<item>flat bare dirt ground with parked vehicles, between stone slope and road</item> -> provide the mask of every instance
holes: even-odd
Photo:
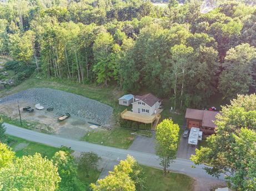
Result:
[[[93,131],[92,128],[89,128],[89,125],[91,124],[89,124],[85,118],[71,116],[64,121],[58,121],[57,118],[64,113],[54,110],[47,111],[46,109],[36,110],[34,107],[36,104],[37,103],[28,101],[19,101],[21,118],[27,122],[23,123],[23,127],[28,127],[37,131],[53,133],[54,135],[60,137],[66,137],[75,140],[79,140],[87,132]],[[23,111],[22,107],[25,106],[31,106],[34,111]],[[0,104],[0,111],[12,119],[19,120],[18,104],[16,101],[9,101]]]

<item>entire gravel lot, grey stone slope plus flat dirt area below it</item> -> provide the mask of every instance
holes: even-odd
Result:
[[[49,88],[33,88],[20,91],[0,99],[0,113],[19,119],[18,104],[23,123],[22,126],[41,132],[79,140],[87,132],[94,131],[89,126],[93,124],[108,126],[113,108],[87,97],[71,94],[65,91]],[[41,104],[43,110],[36,110],[35,105]],[[23,111],[22,107],[31,106],[34,111]],[[53,107],[53,111],[47,111]],[[57,118],[66,112],[71,117],[63,121]]]

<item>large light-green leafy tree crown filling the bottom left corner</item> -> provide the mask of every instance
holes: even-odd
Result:
[[[38,153],[16,158],[0,169],[2,190],[54,191],[60,180],[57,167]]]

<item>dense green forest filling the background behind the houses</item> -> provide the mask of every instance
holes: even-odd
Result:
[[[152,1],[159,2],[159,1]],[[256,6],[170,0],[0,1],[0,55],[16,72],[79,84],[116,85],[201,108],[255,92]]]

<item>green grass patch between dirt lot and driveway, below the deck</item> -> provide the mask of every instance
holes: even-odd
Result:
[[[150,131],[129,130],[127,128],[113,128],[112,130],[96,129],[87,133],[82,138],[82,141],[127,149],[135,138],[135,135],[131,135],[130,133],[152,136]]]

